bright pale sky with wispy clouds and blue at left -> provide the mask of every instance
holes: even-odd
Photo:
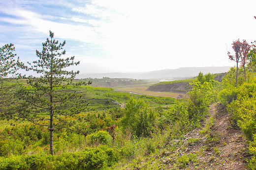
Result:
[[[234,66],[232,42],[256,40],[256,0],[0,0],[0,47],[23,62],[54,32],[80,73]]]

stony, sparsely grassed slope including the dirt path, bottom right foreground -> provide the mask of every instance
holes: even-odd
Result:
[[[156,165],[160,170],[246,170],[246,144],[243,132],[230,124],[224,107],[215,103],[200,127],[181,140],[169,141],[168,137],[165,146],[171,147],[162,153],[119,166],[120,170],[150,170]]]

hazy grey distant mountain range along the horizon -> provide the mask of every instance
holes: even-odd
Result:
[[[224,67],[182,67],[179,69],[165,69],[152,72],[138,72],[138,73],[81,73],[76,78],[134,78],[134,79],[175,79],[194,77],[199,72],[202,73],[224,73],[228,72],[229,66]]]

